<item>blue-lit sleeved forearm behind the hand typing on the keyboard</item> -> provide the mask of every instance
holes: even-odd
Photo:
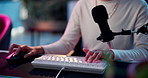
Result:
[[[143,48],[135,48],[131,50],[116,50],[112,49],[114,52],[114,60],[145,60],[148,59],[148,51]]]

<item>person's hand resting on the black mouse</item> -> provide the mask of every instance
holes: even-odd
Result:
[[[9,47],[9,53],[14,52],[14,50],[16,51],[14,56],[17,55],[20,51],[28,52],[26,55],[24,55],[24,58],[34,56],[37,54],[44,54],[44,50],[42,49],[42,47],[30,47],[27,45],[12,44]]]

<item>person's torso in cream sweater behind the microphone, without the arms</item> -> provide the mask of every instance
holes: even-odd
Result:
[[[104,5],[108,13],[111,13],[118,0],[110,2],[100,2],[97,5]],[[99,26],[94,22],[91,14],[92,8],[96,6],[95,0],[81,0],[80,7],[80,29],[83,38],[83,47],[88,49],[108,49],[108,45],[96,38],[101,34]],[[124,30],[134,30],[136,13],[133,0],[120,0],[116,11],[111,18],[108,19],[108,24],[112,32],[121,32]],[[133,35],[116,36],[112,40],[114,49],[131,49],[133,48]]]

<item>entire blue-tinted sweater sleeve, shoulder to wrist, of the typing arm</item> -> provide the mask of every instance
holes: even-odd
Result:
[[[148,7],[145,2],[141,3],[140,10],[137,15],[135,30],[148,23]],[[114,60],[146,60],[148,59],[148,35],[134,34],[134,48],[130,50],[113,49]]]

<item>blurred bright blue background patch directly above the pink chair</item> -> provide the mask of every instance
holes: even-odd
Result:
[[[0,0],[0,13],[11,18],[14,28],[22,25],[20,19],[21,4],[21,1],[16,0]]]

